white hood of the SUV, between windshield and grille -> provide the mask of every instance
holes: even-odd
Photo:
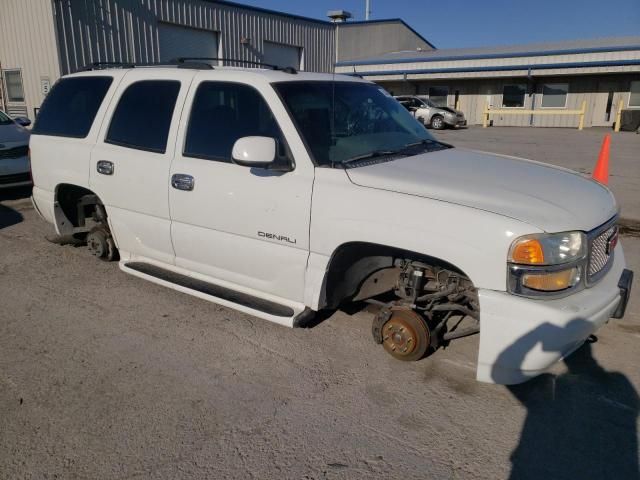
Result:
[[[450,148],[346,170],[353,183],[514,218],[547,232],[591,230],[617,206],[606,187],[563,168]]]

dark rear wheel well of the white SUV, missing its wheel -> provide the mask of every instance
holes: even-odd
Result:
[[[93,217],[96,205],[101,204],[98,196],[91,190],[67,183],[60,184],[56,188],[56,221],[66,229],[83,229],[87,225],[87,219]]]

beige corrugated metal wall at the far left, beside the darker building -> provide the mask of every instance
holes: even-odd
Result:
[[[0,0],[0,32],[0,65],[21,70],[25,95],[8,110],[33,119],[44,98],[42,83],[60,76],[51,0]]]

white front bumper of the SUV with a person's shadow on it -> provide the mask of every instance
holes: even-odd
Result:
[[[630,271],[618,245],[611,270],[596,285],[568,297],[534,300],[480,290],[477,379],[522,383],[570,355],[609,318],[624,314],[633,278],[625,272]]]

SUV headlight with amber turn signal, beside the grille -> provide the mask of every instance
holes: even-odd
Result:
[[[583,285],[586,253],[583,232],[519,237],[509,249],[508,289],[530,297],[573,292]]]

